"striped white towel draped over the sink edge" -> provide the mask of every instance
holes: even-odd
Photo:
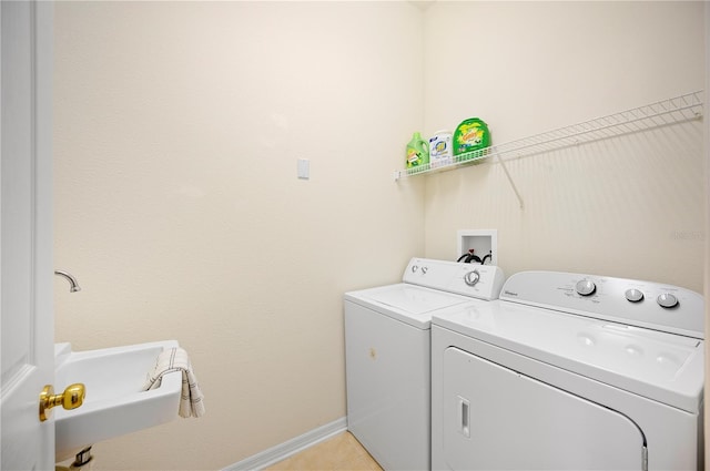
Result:
[[[173,371],[182,371],[182,396],[180,398],[180,417],[202,417],[204,414],[204,396],[200,390],[197,378],[192,371],[192,365],[187,352],[180,348],[168,348],[163,350],[155,361],[152,371],[148,372],[144,391],[156,389],[164,375]]]

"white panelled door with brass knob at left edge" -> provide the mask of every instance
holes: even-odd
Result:
[[[53,470],[52,3],[2,1],[0,24],[1,469]]]

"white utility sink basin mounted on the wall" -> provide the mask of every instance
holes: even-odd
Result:
[[[57,461],[99,441],[175,419],[182,390],[181,371],[163,376],[158,389],[141,389],[160,352],[178,346],[176,340],[165,340],[72,351],[70,344],[55,344],[54,390],[60,393],[74,382],[87,387],[80,408],[52,409]]]

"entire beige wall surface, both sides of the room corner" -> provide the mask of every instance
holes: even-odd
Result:
[[[57,4],[57,340],[176,338],[207,416],[98,469],[219,469],[345,414],[341,298],[497,228],[507,274],[702,289],[702,124],[394,184],[412,131],[494,141],[703,86],[702,3]],[[423,69],[424,68],[424,69]],[[310,158],[312,178],[296,178]]]

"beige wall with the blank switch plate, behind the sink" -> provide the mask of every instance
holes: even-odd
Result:
[[[220,469],[345,416],[342,295],[424,252],[423,182],[392,177],[423,124],[422,21],[57,3],[54,259],[83,288],[57,279],[57,341],[178,339],[207,410],[99,443],[94,469]]]

